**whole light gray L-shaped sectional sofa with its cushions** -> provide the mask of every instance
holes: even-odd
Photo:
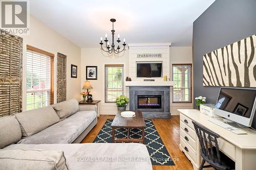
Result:
[[[0,118],[0,170],[152,169],[143,144],[80,143],[96,124],[75,99]]]

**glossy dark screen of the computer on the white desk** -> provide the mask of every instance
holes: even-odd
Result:
[[[221,88],[216,108],[250,118],[255,96],[255,89]]]

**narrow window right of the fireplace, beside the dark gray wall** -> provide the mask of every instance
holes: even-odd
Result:
[[[173,64],[173,103],[191,103],[192,64]]]

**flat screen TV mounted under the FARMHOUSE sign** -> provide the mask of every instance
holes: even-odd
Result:
[[[137,63],[137,77],[162,77],[162,63]]]

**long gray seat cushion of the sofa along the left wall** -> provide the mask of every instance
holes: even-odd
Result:
[[[78,111],[45,130],[24,138],[18,143],[72,143],[96,118],[95,111]]]

